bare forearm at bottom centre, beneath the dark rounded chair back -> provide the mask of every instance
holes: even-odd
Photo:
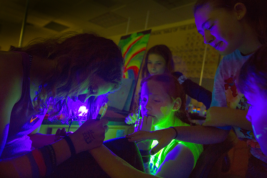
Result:
[[[104,145],[89,150],[101,168],[112,178],[155,178],[151,174],[139,171],[115,155]]]

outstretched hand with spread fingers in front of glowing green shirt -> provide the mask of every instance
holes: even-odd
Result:
[[[150,150],[150,155],[154,155],[162,148],[166,147],[176,136],[173,128],[165,128],[157,131],[137,131],[130,135],[125,135],[129,142],[142,142],[147,140],[157,140],[158,144]]]

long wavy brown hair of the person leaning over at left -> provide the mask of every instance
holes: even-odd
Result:
[[[34,98],[36,111],[53,105],[50,117],[62,113],[67,118],[68,97],[76,96],[92,85],[94,75],[112,84],[113,90],[121,84],[124,59],[120,48],[111,39],[94,33],[68,32],[54,38],[38,38],[25,47],[11,50],[54,61],[53,72],[42,81]],[[96,98],[91,98],[91,101],[96,101]],[[92,112],[96,107],[91,103]]]

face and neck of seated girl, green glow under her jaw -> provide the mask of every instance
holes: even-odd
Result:
[[[173,101],[165,88],[162,82],[149,80],[144,82],[140,98],[142,116],[152,116],[153,126],[164,128],[174,125],[174,111],[179,109],[176,107],[176,101],[181,101],[180,98]]]

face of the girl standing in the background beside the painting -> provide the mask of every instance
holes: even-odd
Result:
[[[147,70],[150,75],[163,74],[166,70],[165,59],[158,54],[148,55]]]

